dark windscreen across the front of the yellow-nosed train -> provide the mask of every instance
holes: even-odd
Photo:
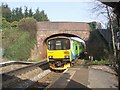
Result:
[[[48,41],[49,50],[67,50],[70,49],[70,40],[66,38],[57,38]]]

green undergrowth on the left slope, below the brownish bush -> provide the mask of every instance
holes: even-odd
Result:
[[[16,28],[3,31],[4,58],[27,61],[34,44],[35,37],[28,31],[20,31]]]

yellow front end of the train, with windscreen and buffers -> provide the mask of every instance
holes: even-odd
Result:
[[[64,70],[70,67],[70,40],[68,38],[52,38],[47,40],[47,61],[50,68]]]

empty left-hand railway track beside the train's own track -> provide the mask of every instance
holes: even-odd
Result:
[[[28,80],[32,80],[30,78],[35,79],[35,76],[40,76],[40,73],[45,72],[49,68],[48,66],[49,65],[46,61],[42,61],[9,72],[4,72],[0,74],[0,76],[2,76],[2,88],[17,87],[19,83],[24,83]]]

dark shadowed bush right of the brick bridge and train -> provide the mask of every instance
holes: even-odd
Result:
[[[86,45],[88,55],[93,56],[94,59],[100,60],[109,58],[109,46],[98,30],[90,32],[90,37]]]

